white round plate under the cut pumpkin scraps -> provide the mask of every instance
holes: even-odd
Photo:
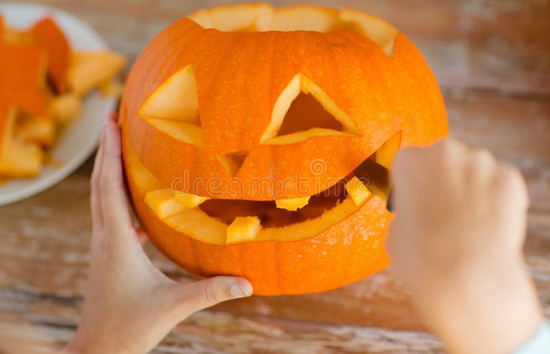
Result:
[[[0,3],[0,14],[12,27],[28,28],[45,15],[63,29],[76,50],[107,49],[107,43],[83,21],[67,12],[43,5]],[[90,156],[98,145],[102,126],[115,108],[115,97],[102,97],[98,92],[87,95],[78,118],[69,123],[58,137],[51,155],[56,166],[43,167],[36,178],[10,180],[0,185],[0,205],[17,202],[52,187],[69,176]],[[61,165],[58,165],[60,162]]]

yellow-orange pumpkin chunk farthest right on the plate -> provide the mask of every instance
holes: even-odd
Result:
[[[118,75],[126,59],[113,51],[73,52],[67,71],[67,86],[79,95]]]

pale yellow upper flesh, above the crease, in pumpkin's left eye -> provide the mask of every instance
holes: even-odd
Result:
[[[177,119],[200,124],[195,69],[177,71],[159,86],[137,110],[142,117]]]

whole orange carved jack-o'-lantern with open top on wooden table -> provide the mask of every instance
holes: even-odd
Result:
[[[448,134],[414,45],[354,10],[234,5],[170,25],[120,108],[126,175],[153,243],[256,294],[345,285],[386,266],[391,214],[353,169]]]

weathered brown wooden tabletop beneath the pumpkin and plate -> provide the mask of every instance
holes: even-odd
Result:
[[[40,1],[93,25],[134,60],[163,27],[231,1]],[[298,1],[272,1],[288,5]],[[550,317],[550,1],[311,1],[360,8],[408,34],[437,75],[451,134],[516,165],[531,196],[525,245]],[[0,207],[0,309],[32,327],[37,345],[71,338],[86,287],[90,159],[52,189]],[[164,272],[186,276],[147,246]],[[252,297],[201,311],[157,353],[438,352],[399,281],[384,271],[339,290]]]

